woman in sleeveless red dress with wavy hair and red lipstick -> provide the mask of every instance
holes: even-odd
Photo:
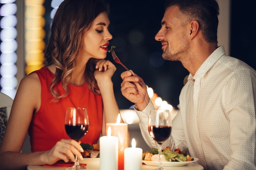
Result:
[[[53,164],[83,149],[64,128],[67,107],[88,110],[83,143],[97,143],[119,108],[111,81],[116,67],[106,58],[109,8],[100,0],[65,0],[56,11],[45,51],[45,67],[22,79],[0,148],[2,169]],[[31,153],[20,153],[29,131]]]

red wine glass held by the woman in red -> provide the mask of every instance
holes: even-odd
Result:
[[[88,132],[88,127],[89,121],[86,108],[67,108],[65,130],[71,139],[79,142]],[[79,170],[84,168],[80,166],[76,155],[75,158],[74,166],[67,168],[67,170]]]

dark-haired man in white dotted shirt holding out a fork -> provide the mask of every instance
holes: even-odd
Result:
[[[162,28],[165,60],[180,61],[189,71],[180,93],[179,113],[171,137],[163,144],[189,151],[204,170],[255,170],[256,71],[225,55],[217,44],[219,7],[215,0],[169,0]],[[121,92],[135,103],[141,133],[150,147],[148,114],[154,109],[143,80],[121,74]]]

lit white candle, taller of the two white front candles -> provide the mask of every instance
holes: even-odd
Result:
[[[111,128],[108,128],[108,136],[99,139],[100,170],[118,169],[118,138],[111,136]]]

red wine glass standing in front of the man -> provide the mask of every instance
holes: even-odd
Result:
[[[164,109],[151,110],[148,118],[149,134],[158,144],[159,163],[155,170],[164,170],[161,162],[162,144],[171,135],[171,113]]]

